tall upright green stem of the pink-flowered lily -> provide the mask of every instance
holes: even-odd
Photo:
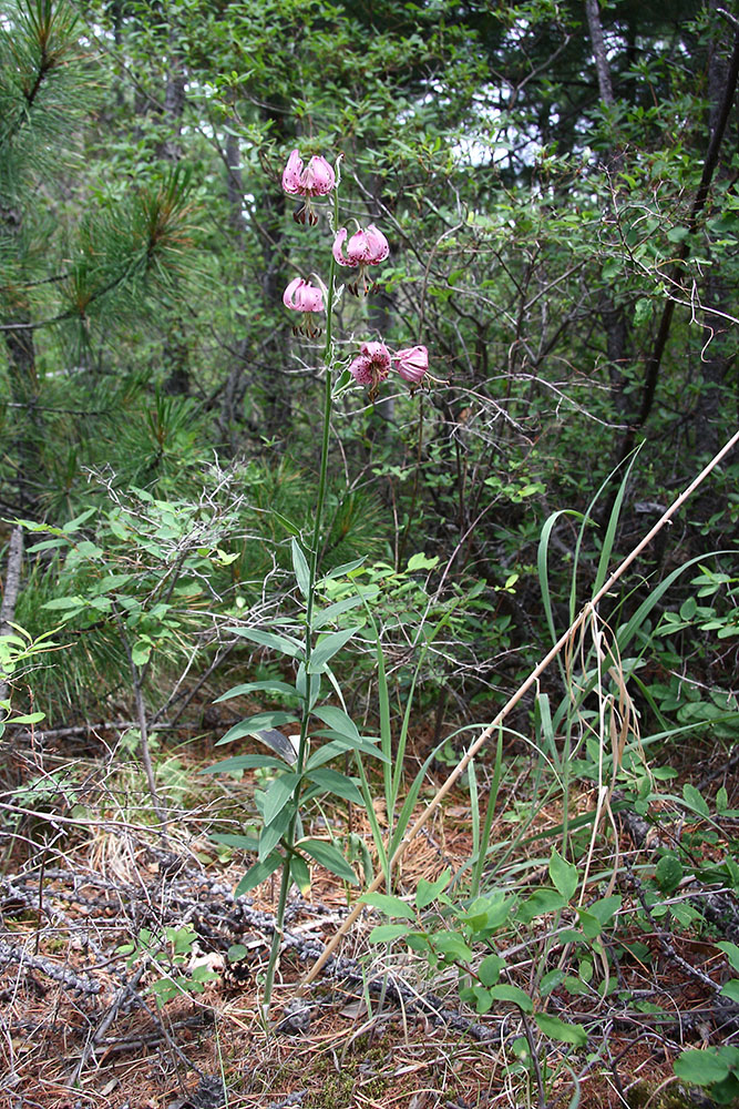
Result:
[[[338,190],[333,193],[333,231],[336,232],[339,226],[339,195]],[[326,478],[328,474],[328,444],[331,429],[331,395],[333,388],[333,345],[332,345],[332,322],[333,322],[333,282],[336,277],[336,261],[333,255],[331,255],[331,266],[329,269],[328,278],[328,293],[327,293],[327,304],[326,304],[326,345],[324,347],[324,369],[325,369],[325,386],[324,386],[324,424],[321,434],[321,456],[320,456],[320,468],[318,471],[318,495],[316,499],[316,519],[314,523],[314,536],[312,543],[310,548],[310,560],[308,563],[310,570],[310,577],[308,580],[308,596],[306,598],[306,689],[305,696],[302,700],[302,713],[300,718],[300,741],[298,744],[298,757],[296,760],[295,771],[298,775],[298,782],[295,787],[294,803],[295,812],[292,818],[288,825],[287,832],[285,833],[285,838],[283,841],[284,846],[287,848],[285,855],[285,862],[283,863],[283,875],[279,885],[279,895],[277,898],[277,909],[275,912],[275,932],[273,934],[271,947],[269,950],[269,964],[267,966],[267,975],[265,978],[265,993],[261,1003],[261,1009],[267,1019],[269,1015],[269,1006],[271,1003],[271,994],[275,985],[275,971],[277,968],[277,959],[279,956],[279,949],[283,944],[283,935],[285,930],[285,909],[287,908],[287,895],[290,888],[290,858],[292,854],[292,847],[295,845],[295,831],[298,824],[298,811],[300,802],[300,791],[302,788],[302,773],[306,764],[306,753],[308,749],[308,723],[310,720],[310,710],[312,709],[312,698],[311,698],[311,681],[310,681],[310,652],[312,650],[312,618],[314,618],[314,599],[316,596],[316,581],[318,579],[318,557],[321,543],[321,521],[324,516],[324,502],[326,500]]]

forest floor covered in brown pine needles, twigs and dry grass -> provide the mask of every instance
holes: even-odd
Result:
[[[635,875],[654,865],[658,844],[651,832],[637,842],[638,821],[616,824],[615,888],[624,913],[610,954],[618,990],[601,996],[587,988],[583,960],[547,940],[546,918],[530,926],[533,956],[524,943],[510,959],[512,980],[530,991],[545,947],[547,966],[571,976],[579,967],[585,983],[582,990],[553,990],[546,1005],[585,1027],[587,1045],[542,1040],[532,1068],[516,1058],[515,1045],[528,1031],[515,1006],[501,1001],[483,1015],[462,1006],[456,968],[432,974],[408,948],[370,945],[381,918],[369,909],[339,957],[300,993],[348,913],[347,888],[318,866],[307,897],[292,889],[265,1028],[259,990],[277,882],[234,901],[244,861],[208,840],[214,821],[248,807],[248,775],[223,788],[211,780],[199,786],[196,770],[209,761],[207,752],[196,759],[192,749],[181,751],[167,764],[173,821],[163,837],[148,826],[135,764],[103,770],[90,746],[90,740],[80,742],[73,757],[69,744],[7,749],[6,773],[14,763],[24,784],[0,798],[3,1109],[574,1109],[576,1091],[586,1109],[714,1103],[696,1100],[675,1078],[673,1062],[681,1049],[720,1045],[739,1028],[739,1006],[719,991],[727,970],[716,946],[739,942],[739,910],[733,895],[723,894],[718,927],[681,927],[665,916],[645,924]],[[510,757],[512,765],[521,762],[515,753]],[[439,767],[437,783],[443,776]],[[512,784],[507,794],[505,784],[501,791],[493,840],[509,835],[525,776],[506,779]],[[729,784],[736,798],[736,767]],[[592,808],[594,798],[595,791],[584,787],[573,811]],[[351,831],[371,844],[362,816],[350,814]],[[398,892],[410,893],[419,879],[432,881],[470,858],[469,816],[470,794],[460,786],[411,845]],[[347,818],[346,808],[330,814],[335,834],[347,831]],[[545,833],[560,820],[556,806],[545,806],[536,828]],[[676,821],[666,812],[659,835],[685,835],[685,823],[678,828]],[[610,857],[614,837],[613,828],[604,836]],[[706,851],[718,857],[726,845],[709,841]],[[525,888],[537,872],[521,873]],[[701,891],[686,881],[680,893],[687,904]],[[151,957],[157,937],[158,970]],[[603,971],[595,963],[597,976]],[[207,980],[193,985],[198,975]]]

